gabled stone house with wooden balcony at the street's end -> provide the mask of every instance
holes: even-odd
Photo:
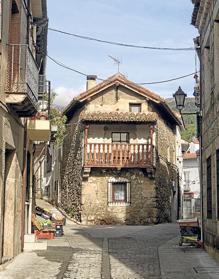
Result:
[[[164,99],[116,74],[64,110],[61,206],[82,223],[147,224],[178,217],[176,129]]]

